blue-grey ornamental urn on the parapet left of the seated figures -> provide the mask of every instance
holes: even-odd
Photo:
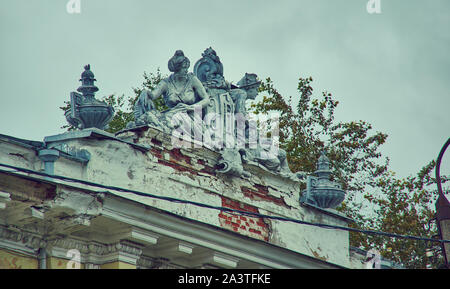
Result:
[[[98,128],[104,130],[114,116],[112,106],[95,99],[98,87],[94,85],[94,73],[90,65],[84,67],[81,74],[81,86],[77,92],[70,93],[71,109],[65,113],[67,121],[79,129]]]

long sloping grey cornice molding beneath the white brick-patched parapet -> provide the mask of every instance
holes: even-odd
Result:
[[[107,195],[103,216],[275,269],[342,268],[267,242]]]

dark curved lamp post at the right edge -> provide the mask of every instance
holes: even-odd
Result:
[[[450,138],[444,144],[439,153],[436,161],[436,184],[438,187],[439,197],[436,201],[436,220],[439,230],[440,239],[449,240],[450,239],[450,202],[445,197],[442,192],[440,167],[442,157],[444,156],[445,150],[450,145]],[[450,269],[450,243],[442,243],[442,252],[444,254],[445,266]]]

